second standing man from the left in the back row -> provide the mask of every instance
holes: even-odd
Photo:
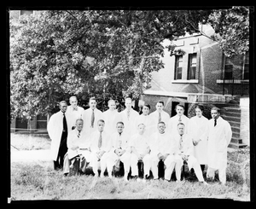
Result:
[[[76,120],[82,119],[82,115],[84,113],[84,108],[78,106],[78,99],[77,96],[71,96],[69,98],[70,106],[67,107],[66,114],[68,115],[68,124],[67,129],[68,131],[72,131],[76,128]]]

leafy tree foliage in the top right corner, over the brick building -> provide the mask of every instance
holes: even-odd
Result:
[[[249,8],[213,10],[208,22],[216,34],[212,39],[218,41],[224,55],[245,55],[249,50]]]

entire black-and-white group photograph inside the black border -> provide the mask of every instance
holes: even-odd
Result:
[[[8,203],[255,200],[253,6],[6,13]]]

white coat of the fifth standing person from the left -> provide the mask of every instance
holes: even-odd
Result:
[[[137,127],[134,122],[138,115],[139,113],[137,113],[137,111],[135,111],[132,108],[130,110],[129,119],[127,118],[127,108],[125,108],[125,110],[119,113],[120,120],[125,125],[124,133],[127,134],[128,136],[132,136],[133,134],[137,133]]]

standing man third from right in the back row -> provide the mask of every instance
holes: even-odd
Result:
[[[175,107],[176,115],[174,115],[168,121],[168,130],[171,134],[177,134],[177,125],[183,123],[185,125],[185,133],[188,133],[189,118],[184,115],[185,107],[183,105],[177,104]]]

